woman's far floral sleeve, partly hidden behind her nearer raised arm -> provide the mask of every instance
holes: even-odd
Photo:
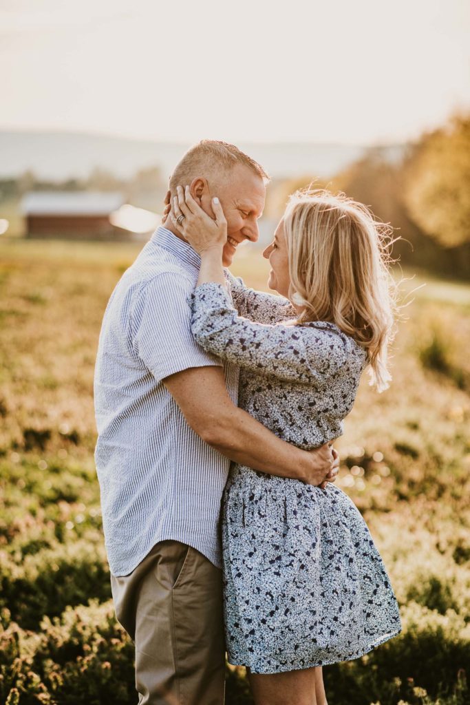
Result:
[[[233,276],[228,269],[225,270],[225,278],[240,316],[268,324],[295,317],[295,308],[283,296],[250,289],[240,276]]]

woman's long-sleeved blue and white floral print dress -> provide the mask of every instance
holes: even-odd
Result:
[[[239,406],[305,450],[338,438],[367,364],[364,348],[330,322],[276,325],[295,313],[287,300],[228,283],[233,298],[216,283],[194,290],[192,333],[240,367]],[[252,673],[322,666],[366,654],[401,630],[369,529],[334,484],[321,489],[233,464],[222,545],[234,665]]]

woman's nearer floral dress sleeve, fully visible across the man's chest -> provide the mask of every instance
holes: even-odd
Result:
[[[190,300],[197,343],[237,367],[287,381],[323,384],[350,355],[351,340],[336,327],[271,326],[238,316],[221,284],[200,284]]]

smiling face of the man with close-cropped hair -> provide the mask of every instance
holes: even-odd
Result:
[[[211,212],[211,199],[217,196],[227,220],[227,243],[223,247],[223,266],[232,264],[237,246],[244,240],[256,243],[259,238],[257,220],[263,213],[266,187],[261,176],[237,164],[221,183],[207,181],[209,194],[202,195],[202,207]],[[206,198],[206,203],[204,199]]]

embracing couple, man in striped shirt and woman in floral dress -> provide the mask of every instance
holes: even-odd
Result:
[[[326,705],[322,666],[400,632],[359,510],[335,486],[361,373],[388,386],[381,226],[326,191],[290,197],[264,250],[278,295],[227,269],[268,177],[192,147],[167,217],[109,300],[95,373],[106,551],[140,704],[222,705],[225,650],[256,705]]]

